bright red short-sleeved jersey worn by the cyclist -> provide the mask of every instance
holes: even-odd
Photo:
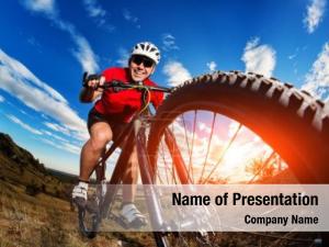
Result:
[[[129,83],[128,68],[109,68],[102,75],[105,81],[122,81]],[[143,81],[146,86],[157,86],[150,79]],[[162,92],[150,91],[150,102],[158,108],[163,101]],[[113,116],[120,122],[128,123],[133,115],[141,110],[141,91],[136,89],[126,89],[115,92],[113,89],[106,89],[100,100],[95,102],[95,109],[101,114]]]

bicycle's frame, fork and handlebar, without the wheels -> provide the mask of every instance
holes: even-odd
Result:
[[[111,85],[103,86],[104,89],[107,88],[132,88],[129,85],[122,83],[120,81],[112,81]],[[136,88],[133,86],[133,88]],[[138,88],[138,87],[137,87]],[[145,90],[146,89],[146,90]],[[146,87],[141,88],[143,96],[141,99],[145,99],[145,93],[147,93],[148,90],[155,90],[155,91],[162,91],[162,92],[171,92],[170,89],[161,88],[161,87]],[[144,193],[147,202],[147,209],[150,215],[150,224],[154,228],[157,229],[155,232],[155,239],[158,243],[158,246],[167,246],[166,240],[162,239],[166,232],[170,232],[170,227],[166,224],[163,220],[162,214],[162,207],[160,205],[159,197],[157,195],[157,190],[154,184],[155,182],[155,171],[150,167],[150,161],[148,157],[147,151],[147,141],[146,141],[146,124],[147,121],[145,116],[143,116],[140,113],[138,113],[134,121],[132,121],[131,124],[128,124],[118,136],[118,139],[112,144],[112,146],[109,148],[109,150],[104,151],[103,156],[101,157],[99,161],[99,166],[101,168],[97,168],[97,180],[100,182],[105,178],[105,166],[106,166],[106,159],[114,153],[114,150],[123,144],[125,144],[116,164],[113,170],[113,173],[111,176],[110,181],[107,182],[107,190],[104,198],[100,198],[99,201],[99,211],[95,213],[97,216],[94,216],[93,222],[94,226],[93,229],[87,231],[84,225],[80,224],[80,228],[83,229],[82,232],[90,238],[94,237],[97,232],[99,231],[99,225],[102,221],[102,218],[105,218],[109,215],[109,212],[111,211],[111,207],[113,206],[113,202],[115,199],[115,195],[118,191],[120,184],[123,181],[123,176],[126,170],[127,161],[129,158],[129,155],[133,151],[134,144],[137,148],[137,159],[138,159],[138,167],[140,171],[141,181],[144,184],[147,184],[144,187]],[[173,157],[174,164],[177,164],[177,169],[179,171],[179,179],[182,183],[189,183],[191,179],[189,178],[188,170],[183,164],[182,156],[179,153],[178,145],[174,141],[173,134],[167,130],[166,133],[166,143],[169,147],[169,150],[171,153],[171,156]],[[171,151],[172,150],[172,151]],[[80,215],[81,214],[81,215]],[[79,218],[83,218],[84,211],[79,210]],[[81,221],[79,222],[81,223]],[[82,220],[83,223],[83,220]],[[160,231],[159,231],[160,229]]]

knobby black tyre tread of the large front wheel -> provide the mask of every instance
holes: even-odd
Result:
[[[216,98],[216,93],[218,98]],[[207,99],[204,94],[209,94],[212,98]],[[208,103],[214,101],[214,103],[219,102],[218,104],[229,104],[231,109],[240,108],[239,110],[241,112],[247,109],[249,113],[246,114],[253,115],[253,119],[258,119],[258,115],[254,114],[262,114],[264,112],[265,116],[262,117],[269,117],[270,124],[271,120],[276,121],[280,117],[286,119],[286,123],[281,122],[283,123],[282,126],[274,126],[274,128],[282,128],[284,130],[282,133],[288,133],[294,132],[294,126],[292,125],[296,125],[297,132],[300,133],[292,133],[291,136],[286,137],[294,139],[292,142],[294,145],[293,150],[298,153],[298,142],[300,142],[300,149],[304,147],[304,151],[308,151],[307,148],[313,148],[309,153],[319,153],[319,156],[322,155],[322,158],[317,158],[314,154],[307,154],[305,157],[300,155],[303,158],[300,158],[299,161],[306,165],[307,162],[311,162],[315,164],[315,166],[321,166],[319,169],[324,169],[325,164],[329,161],[327,155],[327,153],[329,153],[328,105],[313,98],[309,92],[296,89],[292,83],[281,82],[275,78],[266,78],[259,74],[245,74],[235,70],[202,75],[173,89],[173,92],[168,96],[159,106],[155,116],[160,123],[155,121],[150,128],[148,149],[151,155],[155,155],[157,143],[159,142],[158,137],[155,136],[161,135],[162,125],[168,125],[170,123],[169,121],[172,121],[172,117],[174,117],[172,112],[181,111],[180,109],[182,106],[180,104],[189,104],[189,102],[193,103],[193,101],[198,102],[198,98],[202,98],[204,101],[208,100]],[[224,102],[220,102],[223,98]],[[248,104],[248,108],[245,108],[245,104]],[[252,108],[259,109],[253,111]],[[246,116],[246,119],[248,119],[248,116]],[[265,120],[264,123],[266,123],[266,121],[268,120]],[[248,126],[248,124],[246,125]],[[271,126],[273,128],[273,125]],[[284,139],[285,136],[280,136],[280,138]],[[314,142],[317,147],[313,147],[311,142]],[[308,157],[310,158],[308,159]],[[155,162],[155,160],[152,162]],[[298,164],[296,162],[294,166],[297,169]],[[329,180],[329,178],[326,177],[325,180],[327,181],[327,179]]]

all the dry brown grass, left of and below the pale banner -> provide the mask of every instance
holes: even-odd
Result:
[[[92,240],[78,232],[77,213],[67,201],[39,193],[31,197],[24,187],[0,179],[0,247],[151,247],[152,235],[147,233],[100,233]],[[189,234],[185,235],[189,239]],[[286,239],[280,239],[286,237]],[[310,246],[316,234],[311,233],[216,233],[211,236],[213,246]],[[305,239],[295,242],[291,239]],[[180,246],[177,245],[177,246]],[[198,245],[191,240],[189,246]]]

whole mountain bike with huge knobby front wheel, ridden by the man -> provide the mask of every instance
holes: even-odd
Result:
[[[110,85],[124,89],[136,88],[134,85]],[[128,136],[127,144],[136,142],[144,184],[213,183],[215,170],[237,141],[242,126],[250,128],[270,145],[300,183],[329,182],[329,109],[306,91],[297,90],[275,78],[239,71],[203,75],[173,89],[144,86],[139,90],[145,92],[143,96],[149,90],[170,93],[156,115],[137,115],[135,121],[139,125],[138,131],[134,132],[133,123],[136,122],[133,121],[117,142],[122,142],[125,136]],[[211,144],[219,130],[219,115],[227,116],[238,124],[227,144],[222,145],[220,156],[215,157],[217,160],[214,161]],[[200,120],[202,122],[197,124]],[[197,132],[197,128],[205,124],[208,126],[207,136]],[[147,138],[148,125],[150,127]],[[203,145],[203,151],[195,149],[196,143],[200,142],[197,137],[201,136],[207,141],[207,144]],[[102,168],[118,146],[117,143],[113,144],[100,160],[99,165]],[[79,209],[80,229],[88,237],[97,235],[102,218],[111,211],[118,190],[116,186],[121,183],[123,176],[120,171],[124,170],[122,168],[131,148],[131,145],[125,146],[107,182],[105,195],[95,200],[97,206],[91,206],[98,210]],[[194,161],[200,157],[203,157],[203,160],[201,165],[195,166]],[[272,157],[273,154],[269,159]],[[220,179],[217,178],[217,181]],[[157,246],[190,246],[191,243],[197,243],[197,246],[213,246],[207,234],[171,233],[161,215],[157,192],[149,191],[146,198],[150,205],[148,211],[151,224],[162,226],[162,231],[154,233]]]

